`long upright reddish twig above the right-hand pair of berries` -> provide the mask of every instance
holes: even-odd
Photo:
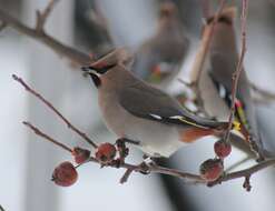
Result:
[[[232,77],[232,104],[230,104],[230,114],[228,119],[228,129],[225,134],[225,141],[229,142],[229,134],[233,127],[233,121],[235,117],[235,101],[236,101],[236,92],[238,87],[238,79],[240,77],[244,63],[244,57],[246,52],[246,19],[247,19],[247,8],[248,8],[248,0],[242,1],[242,47],[240,47],[240,56],[238,59],[236,71],[233,73]]]

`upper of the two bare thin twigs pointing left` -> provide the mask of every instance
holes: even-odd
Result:
[[[67,120],[48,100],[46,100],[40,93],[31,89],[21,78],[19,78],[16,74],[12,74],[12,78],[18,81],[21,86],[24,87],[24,89],[30,92],[32,96],[35,96],[37,99],[42,101],[49,109],[51,109],[66,124],[69,129],[75,131],[77,134],[79,134],[84,140],[86,140],[88,143],[90,143],[94,148],[97,148],[97,144],[84,132],[81,132],[79,129],[77,129],[72,123],[70,123],[69,120]]]

